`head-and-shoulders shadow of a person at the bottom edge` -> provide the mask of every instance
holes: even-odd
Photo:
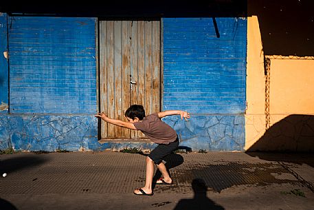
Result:
[[[221,205],[216,204],[214,201],[207,198],[206,185],[204,180],[197,178],[192,181],[192,189],[194,191],[194,198],[192,199],[182,199],[179,200],[177,206],[174,210],[184,210],[184,209],[213,209],[213,210],[223,210]]]

